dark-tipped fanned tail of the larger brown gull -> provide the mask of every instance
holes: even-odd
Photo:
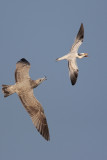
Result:
[[[11,94],[15,93],[14,85],[2,85],[2,92],[4,93],[4,97],[8,97]]]

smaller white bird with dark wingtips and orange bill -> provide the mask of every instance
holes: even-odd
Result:
[[[83,39],[84,39],[84,27],[83,27],[83,24],[81,24],[78,34],[76,36],[76,39],[74,41],[74,44],[70,49],[70,52],[63,57],[56,59],[56,61],[60,61],[63,59],[68,61],[69,76],[70,76],[72,85],[75,85],[78,77],[78,66],[76,63],[76,58],[81,59],[83,57],[88,57],[87,53],[78,53],[78,48],[82,44]]]

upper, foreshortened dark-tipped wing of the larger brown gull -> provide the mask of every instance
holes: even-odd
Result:
[[[15,70],[16,82],[22,82],[30,78],[29,69],[30,69],[30,63],[26,59],[22,58],[20,61],[18,61],[16,63],[16,70]]]

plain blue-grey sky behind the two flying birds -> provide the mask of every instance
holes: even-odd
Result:
[[[83,23],[85,36],[72,86],[67,54]],[[0,160],[107,160],[107,1],[1,0],[0,86],[14,84],[16,63],[26,58],[30,76],[47,76],[34,94],[50,132],[35,129],[17,94],[0,92]],[[1,87],[0,87],[1,89]]]

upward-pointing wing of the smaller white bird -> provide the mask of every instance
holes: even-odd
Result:
[[[84,39],[84,26],[81,23],[80,29],[78,31],[78,34],[77,34],[76,39],[74,41],[74,44],[72,45],[72,48],[71,48],[71,53],[72,54],[77,53],[78,48],[80,47],[80,45],[83,42],[83,39]]]

